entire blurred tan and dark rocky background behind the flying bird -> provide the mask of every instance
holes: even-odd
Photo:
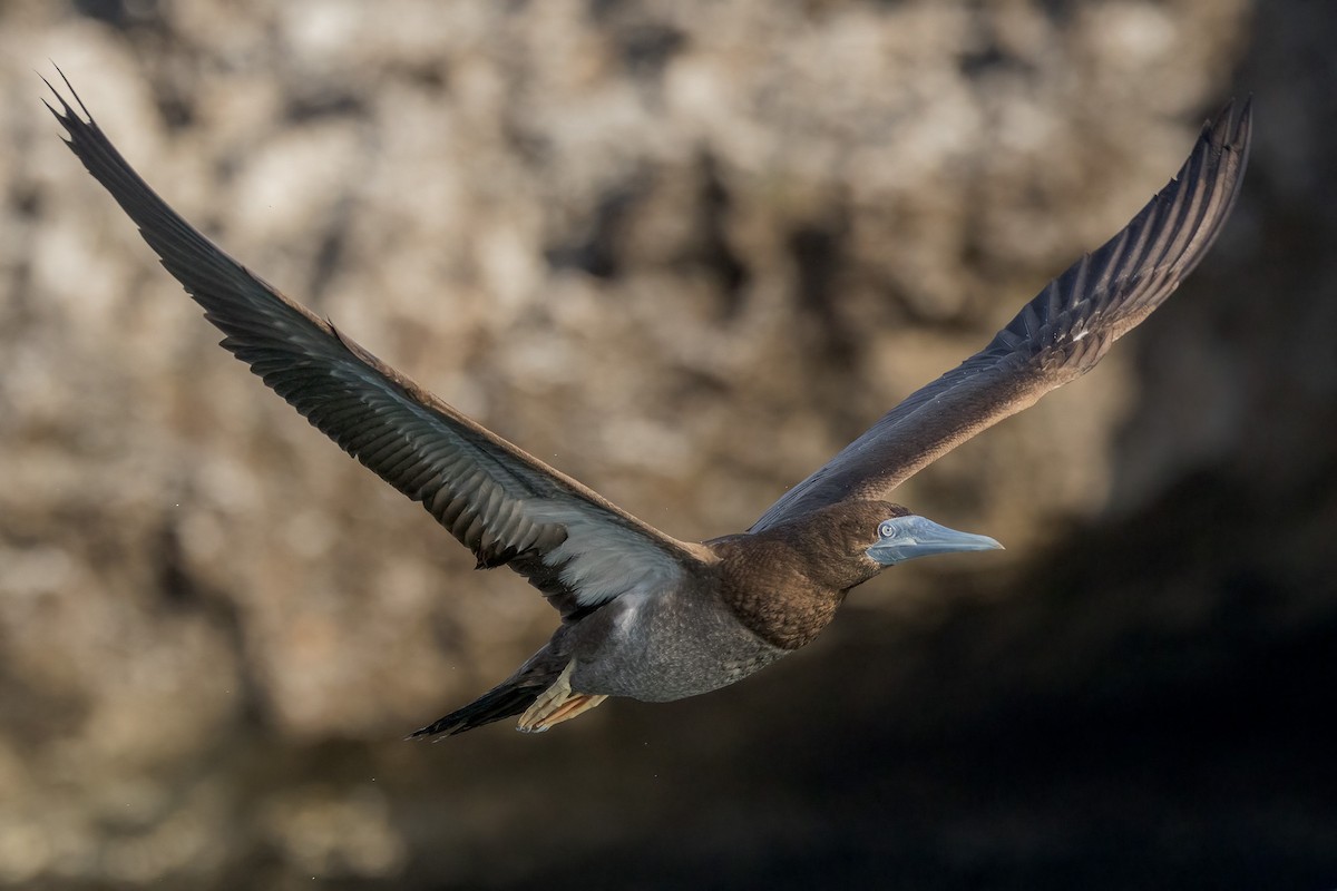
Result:
[[[1322,0],[5,0],[0,884],[1333,887],[1334,44]],[[424,745],[554,616],[215,346],[52,63],[235,256],[687,538],[1226,98],[1257,138],[1163,310],[902,489],[1005,553],[711,696]]]

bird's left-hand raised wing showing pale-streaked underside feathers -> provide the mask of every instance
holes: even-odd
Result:
[[[421,502],[480,568],[509,564],[570,618],[624,593],[663,590],[699,564],[699,549],[475,423],[247,271],[158,198],[66,85],[83,116],[53,87],[62,110],[47,103],[68,131],[66,143],[205,307],[226,335],[222,346]]]

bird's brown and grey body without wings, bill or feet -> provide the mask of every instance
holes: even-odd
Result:
[[[568,665],[571,689],[592,696],[663,703],[727,687],[817,637],[849,589],[881,570],[862,556],[878,522],[906,513],[885,502],[845,502],[804,522],[707,541],[698,550],[699,566],[685,578],[623,594],[564,622],[488,696],[507,701],[517,689],[548,689]],[[846,561],[830,560],[821,545],[846,532],[856,548]],[[814,558],[817,553],[826,558]],[[475,703],[461,711],[476,709],[468,716],[475,720],[491,713],[488,696],[481,709]],[[421,732],[445,732],[460,719],[448,715]]]

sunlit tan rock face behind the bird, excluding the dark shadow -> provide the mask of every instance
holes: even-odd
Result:
[[[547,775],[521,765],[611,759],[655,719],[628,705],[643,724],[594,716],[579,744],[523,753],[501,731],[459,755],[382,745],[504,676],[554,616],[508,573],[472,573],[214,346],[56,142],[33,68],[60,64],[152,186],[267,281],[706,538],[1122,226],[1251,33],[1242,0],[83,8],[104,17],[0,5],[0,883],[71,887],[421,879],[424,863],[523,882],[537,854],[452,858],[532,831],[520,815],[551,801],[524,784]],[[1284,139],[1271,114],[1255,170]],[[1261,223],[1243,216],[1221,247],[1246,259]],[[1112,498],[1135,513],[1249,426],[1257,401],[1211,386],[1231,343],[1167,351],[1203,357],[1158,366],[1203,394],[1189,407],[1148,397],[1159,381],[1116,349],[902,500],[1019,562]],[[1111,437],[1139,405],[1155,425],[1120,465]],[[933,581],[906,570],[858,598],[933,627]],[[723,703],[785,696],[766,684],[663,720],[738,723]],[[721,759],[753,744],[746,724],[718,732]],[[497,795],[499,765],[529,780]]]

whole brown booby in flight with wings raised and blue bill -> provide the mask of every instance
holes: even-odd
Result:
[[[64,75],[62,75],[63,77]],[[48,83],[48,87],[51,84]],[[476,701],[413,733],[520,715],[545,731],[608,696],[667,701],[731,684],[813,640],[845,594],[928,554],[999,548],[888,501],[906,478],[1091,370],[1211,247],[1249,156],[1251,116],[1207,123],[1179,174],[956,369],[786,492],[747,532],[678,541],[464,417],[285,297],[176,215],[66,80],[66,143],[139,226],[230,350],[312,425],[558,610],[552,639]]]

